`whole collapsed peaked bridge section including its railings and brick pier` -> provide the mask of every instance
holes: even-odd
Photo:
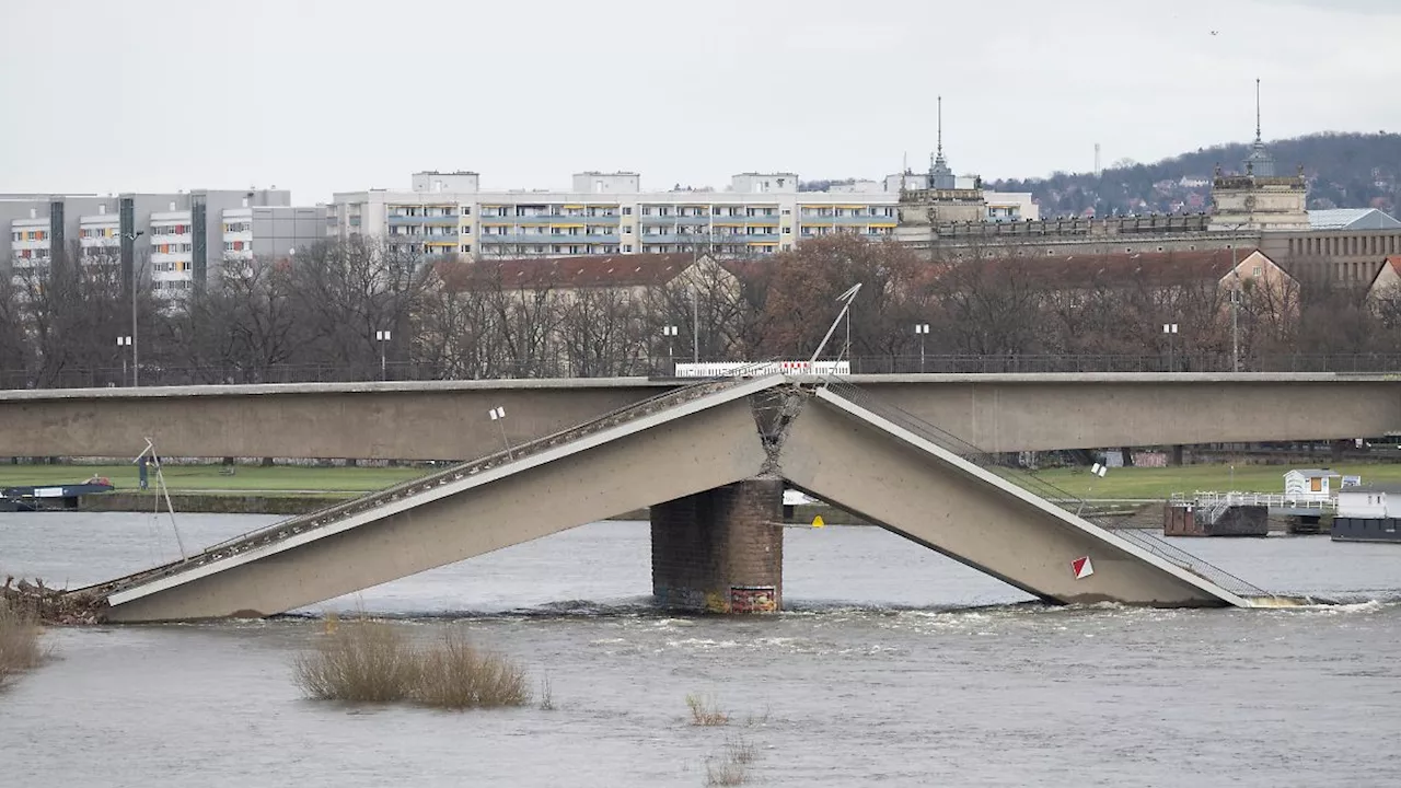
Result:
[[[776,610],[790,485],[1048,602],[1268,596],[984,460],[864,388],[715,380],[74,593],[109,621],[269,616],[650,506],[664,604]]]

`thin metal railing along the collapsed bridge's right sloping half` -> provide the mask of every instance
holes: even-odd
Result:
[[[1114,531],[1117,536],[1125,541],[1133,543],[1142,550],[1157,555],[1159,558],[1178,566],[1180,569],[1187,569],[1198,576],[1202,576],[1217,586],[1245,597],[1257,596],[1271,596],[1264,589],[1243,580],[1241,578],[1209,564],[1191,552],[1166,541],[1157,534],[1145,531],[1142,529],[1119,529],[1112,522],[1105,517],[1097,517],[1087,512],[1089,503],[1079,495],[1063,489],[1052,482],[1042,480],[1041,477],[1027,473],[1021,468],[1014,468],[1002,464],[998,457],[989,451],[974,446],[972,443],[958,437],[957,435],[941,429],[925,419],[899,408],[878,400],[877,397],[863,391],[857,386],[841,379],[827,379],[825,386],[834,394],[849,400],[850,402],[888,419],[890,422],[940,446],[947,451],[953,451],[960,457],[998,474],[999,477],[1016,484],[1017,487],[1031,492],[1047,502],[1065,509],[1076,515],[1077,517],[1087,520],[1104,530]]]

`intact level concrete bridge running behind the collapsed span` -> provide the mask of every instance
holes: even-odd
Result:
[[[892,374],[850,380],[988,451],[1330,440],[1401,429],[1401,376]],[[572,379],[0,391],[3,456],[461,460],[684,381]],[[506,421],[488,418],[506,408]]]

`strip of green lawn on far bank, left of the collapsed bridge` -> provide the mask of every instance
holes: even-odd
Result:
[[[367,492],[429,473],[427,468],[310,468],[298,466],[235,466],[231,477],[219,466],[165,466],[165,485],[172,491],[249,492]],[[90,475],[108,477],[118,489],[136,489],[136,466],[0,466],[0,487],[74,484]],[[156,488],[156,468],[151,468]]]

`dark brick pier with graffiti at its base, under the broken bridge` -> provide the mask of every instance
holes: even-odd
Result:
[[[783,607],[783,481],[747,480],[651,508],[651,593],[665,607]]]

